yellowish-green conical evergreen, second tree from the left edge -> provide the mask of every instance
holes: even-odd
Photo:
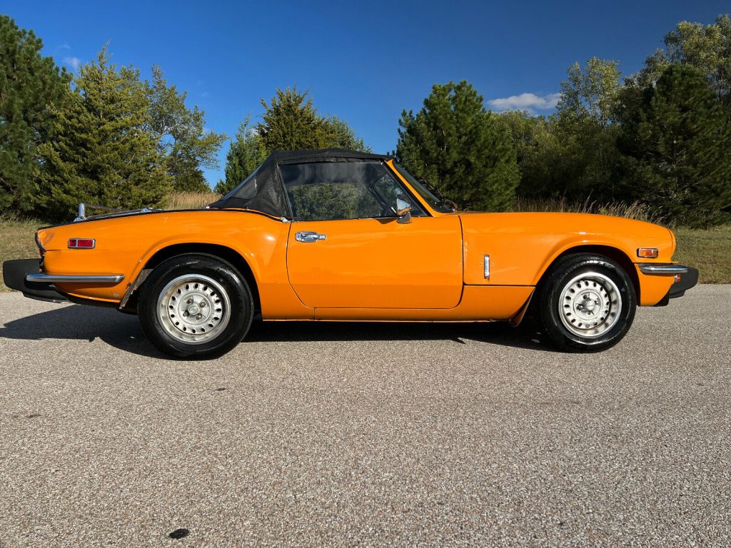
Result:
[[[81,67],[75,93],[54,107],[53,139],[39,147],[45,169],[36,204],[67,219],[78,202],[112,208],[154,205],[170,190],[158,135],[147,131],[150,99],[137,70],[110,64],[106,50]]]

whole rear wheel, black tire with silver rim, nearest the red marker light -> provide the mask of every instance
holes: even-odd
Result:
[[[181,255],[162,262],[145,280],[137,315],[145,335],[164,354],[210,359],[233,349],[249,332],[254,299],[228,262]]]

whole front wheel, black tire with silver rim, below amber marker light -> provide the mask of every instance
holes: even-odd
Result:
[[[632,326],[637,308],[635,286],[624,268],[594,254],[559,259],[537,297],[542,328],[559,349],[574,352],[614,346]]]

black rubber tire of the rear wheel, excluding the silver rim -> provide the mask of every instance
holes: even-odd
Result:
[[[160,323],[157,302],[171,280],[200,274],[221,284],[230,301],[230,319],[220,335],[201,344],[186,344],[173,338]],[[158,265],[140,292],[138,315],[145,335],[165,354],[183,359],[210,359],[233,349],[246,335],[254,317],[251,289],[230,263],[207,255],[177,256]]]

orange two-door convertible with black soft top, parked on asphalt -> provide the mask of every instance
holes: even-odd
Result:
[[[670,230],[575,213],[455,211],[388,156],[272,153],[200,210],[137,210],[39,229],[4,263],[26,296],[137,313],[175,357],[232,349],[264,320],[485,321],[532,313],[558,346],[596,351],[637,305],[697,282]]]

